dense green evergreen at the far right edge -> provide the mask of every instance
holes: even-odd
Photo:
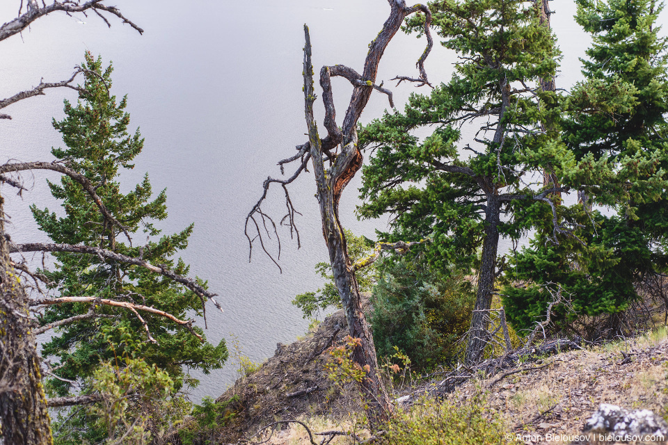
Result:
[[[666,270],[668,47],[655,26],[661,9],[653,0],[578,0],[575,18],[593,44],[582,60],[584,81],[564,103],[562,126],[582,165],[570,178],[580,204],[566,216],[582,226],[582,242],[548,243],[544,227],[514,259],[510,278],[527,286],[508,285],[503,293],[518,327],[545,313],[548,282],[573,298],[575,312],[558,310],[553,318],[567,325],[578,316],[623,312],[639,298],[638,282]],[[587,165],[597,175],[582,175]],[[616,334],[620,319],[610,321],[595,331]]]

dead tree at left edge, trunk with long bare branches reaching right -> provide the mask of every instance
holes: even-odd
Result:
[[[25,3],[25,6],[24,6]],[[114,6],[107,6],[105,0],[70,0],[54,1],[47,5],[45,1],[27,0],[21,1],[18,16],[0,26],[0,41],[10,38],[13,35],[21,33],[31,23],[40,17],[45,17],[51,13],[61,11],[68,15],[96,14],[105,24],[111,26],[110,16],[118,17],[123,23],[129,24],[139,33],[143,30],[131,22],[120,13],[120,10]],[[81,67],[75,68],[74,74],[65,80],[58,82],[43,82],[39,85],[18,92],[17,94],[0,99],[0,110],[16,102],[37,95],[44,95],[45,90],[49,88],[72,88],[78,90],[74,81],[78,74],[85,70]],[[0,113],[0,119],[11,119],[6,113]],[[32,163],[8,163],[0,165],[0,184],[6,184],[10,187],[25,190],[22,186],[18,172],[22,170],[47,169],[61,172],[70,176],[78,182],[85,191],[88,192],[93,201],[97,204],[100,212],[104,215],[107,223],[118,225],[118,227],[127,234],[122,225],[111,216],[111,213],[104,208],[101,200],[95,194],[97,184],[90,184],[90,181],[83,175],[75,172],[66,162],[32,162]],[[192,320],[179,320],[171,314],[161,312],[148,306],[133,305],[123,301],[101,300],[100,298],[86,298],[80,302],[90,302],[90,311],[82,316],[72,317],[67,320],[51,323],[44,327],[38,327],[33,318],[35,306],[45,307],[45,305],[58,305],[71,301],[71,298],[30,298],[26,291],[28,280],[35,280],[35,289],[39,290],[38,282],[45,281],[45,277],[39,273],[29,270],[26,264],[20,264],[10,258],[12,252],[77,252],[79,254],[95,254],[100,257],[113,258],[114,261],[127,262],[138,267],[144,267],[153,273],[164,275],[171,280],[175,280],[195,292],[202,302],[212,299],[213,293],[203,289],[196,280],[177,275],[165,266],[152,265],[141,258],[125,257],[103,249],[87,248],[81,245],[58,245],[58,244],[38,244],[29,243],[25,245],[15,245],[11,242],[10,236],[6,234],[4,223],[7,218],[3,213],[3,197],[0,195],[0,442],[4,445],[44,445],[51,444],[51,426],[47,407],[64,406],[81,403],[92,403],[100,400],[100,395],[81,396],[77,398],[59,398],[48,401],[42,386],[42,357],[38,354],[35,341],[35,334],[45,332],[56,326],[71,323],[84,318],[95,318],[97,316],[109,316],[97,314],[95,307],[97,305],[107,305],[118,307],[119,310],[129,310],[148,327],[140,312],[150,312],[158,316],[170,318],[175,323],[191,328]],[[93,249],[93,250],[91,250]],[[95,250],[95,251],[94,251]],[[23,275],[23,276],[21,276]],[[22,280],[24,278],[24,280]],[[149,339],[152,339],[148,332]],[[76,399],[76,400],[75,400]]]

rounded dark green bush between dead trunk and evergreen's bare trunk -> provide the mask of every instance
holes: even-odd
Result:
[[[475,303],[470,282],[454,273],[438,277],[415,261],[383,264],[370,314],[376,353],[392,360],[399,348],[417,371],[452,358],[455,341],[470,325]]]

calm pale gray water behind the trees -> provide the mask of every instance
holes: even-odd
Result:
[[[17,3],[17,4],[14,4]],[[244,354],[261,361],[277,342],[294,341],[308,325],[290,301],[296,293],[321,284],[313,272],[327,254],[321,235],[315,184],[305,176],[292,185],[292,200],[303,213],[297,223],[300,250],[284,231],[280,264],[283,273],[259,250],[248,263],[244,236],[246,214],[260,196],[267,175],[278,177],[276,162],[294,154],[305,140],[301,91],[304,23],[310,26],[314,65],[342,63],[362,70],[367,43],[375,38],[388,13],[383,0],[255,0],[189,1],[118,0],[122,12],[145,29],[138,35],[118,19],[111,29],[95,15],[53,15],[35,22],[22,36],[0,44],[0,97],[8,97],[45,81],[67,78],[81,63],[84,51],[113,60],[112,92],[127,93],[132,127],[146,139],[136,168],[122,176],[129,189],[149,172],[155,191],[167,188],[170,217],[159,223],[173,233],[190,223],[195,232],[182,254],[191,275],[209,281],[219,293],[224,313],[209,305],[207,337],[239,338]],[[18,2],[3,1],[0,21],[15,17]],[[568,88],[579,79],[578,57],[589,40],[573,22],[572,1],[553,1],[552,24],[564,51],[557,86]],[[379,79],[414,75],[424,38],[398,34],[388,47]],[[438,45],[427,61],[433,81],[447,81],[454,56]],[[386,83],[389,85],[390,83]],[[392,84],[393,85],[393,84]],[[344,114],[351,88],[333,79],[339,115]],[[392,88],[401,104],[415,91],[411,85]],[[427,92],[422,90],[422,92]],[[49,150],[61,145],[51,117],[63,116],[63,98],[70,90],[50,90],[7,108],[11,121],[0,121],[0,162],[51,160]],[[369,122],[388,108],[384,95],[374,95],[363,115]],[[399,106],[401,108],[401,106]],[[322,116],[321,110],[320,116]],[[466,135],[465,135],[466,137]],[[289,171],[289,170],[287,170]],[[45,241],[28,207],[56,209],[45,172],[24,175],[29,193],[17,197],[9,188],[6,212],[15,241]],[[359,222],[356,178],[341,204],[344,225],[356,234],[374,236],[386,220]],[[276,189],[266,209],[283,216],[283,198]],[[141,240],[138,240],[141,242]],[[230,360],[230,363],[232,360]],[[196,374],[201,385],[193,393],[216,397],[234,380],[232,364],[211,375]]]

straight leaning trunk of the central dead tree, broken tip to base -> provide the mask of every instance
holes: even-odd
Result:
[[[328,176],[329,171],[326,172],[324,168],[323,149],[321,147],[317,124],[313,117],[315,92],[313,90],[312,79],[311,44],[306,26],[304,27],[304,31],[306,38],[306,45],[304,47],[305,115],[308,124],[310,154],[317,184],[317,197],[320,204],[322,230],[329,251],[334,282],[346,313],[349,334],[351,337],[361,340],[360,346],[353,350],[352,359],[354,363],[367,371],[366,377],[361,384],[367,398],[369,421],[372,423],[372,426],[375,426],[384,419],[387,419],[392,405],[378,375],[378,361],[376,359],[374,339],[362,311],[360,289],[355,273],[351,270],[346,238],[339,222],[338,200],[340,199],[342,187],[337,187],[337,178],[331,176],[331,172],[330,176]],[[342,154],[353,154],[348,168],[352,170],[352,175],[354,175],[356,170],[361,166],[361,154],[356,149],[358,140],[354,129],[352,136],[352,140],[344,140],[345,146],[342,149]]]

